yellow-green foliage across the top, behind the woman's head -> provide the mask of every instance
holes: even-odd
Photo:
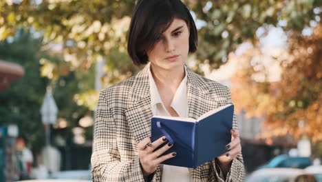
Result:
[[[265,23],[277,25],[284,21],[286,30],[301,30],[314,17],[312,10],[322,5],[319,0],[185,2],[199,25],[197,63],[208,60],[211,68],[222,65],[226,55],[240,43],[256,41],[255,32]],[[72,67],[89,68],[98,54],[126,54],[126,34],[134,5],[132,0],[2,1],[0,39],[12,36],[19,26],[34,26],[45,33],[46,42],[65,45],[65,54],[74,55]],[[119,60],[107,60],[119,66],[115,64]],[[113,70],[120,70],[120,74],[136,71],[128,70],[131,62],[122,65]]]

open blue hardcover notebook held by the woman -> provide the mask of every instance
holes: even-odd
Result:
[[[206,112],[197,120],[152,117],[151,141],[167,136],[173,147],[164,154],[177,152],[177,156],[162,163],[195,169],[227,152],[225,147],[231,141],[233,113],[234,105],[229,104]]]

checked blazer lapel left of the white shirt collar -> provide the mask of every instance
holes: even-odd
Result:
[[[136,75],[129,90],[129,103],[133,103],[125,111],[129,126],[137,143],[151,136],[151,97],[149,88],[149,64]]]

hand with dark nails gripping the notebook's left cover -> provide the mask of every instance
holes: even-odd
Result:
[[[147,137],[138,143],[138,153],[144,177],[147,177],[155,172],[159,163],[176,156],[175,152],[161,156],[173,146],[172,143],[167,143],[167,145],[162,146],[162,148],[155,150],[155,148],[158,148],[158,146],[167,141],[167,138],[162,136],[160,139],[151,143],[150,137]]]

